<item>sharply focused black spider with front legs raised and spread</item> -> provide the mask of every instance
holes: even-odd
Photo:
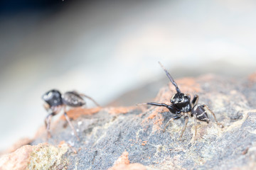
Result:
[[[188,117],[193,117],[194,118],[194,125],[195,125],[195,137],[196,137],[196,133],[197,133],[197,128],[196,128],[196,120],[200,120],[206,123],[210,122],[210,119],[208,118],[207,113],[211,113],[213,114],[213,117],[216,121],[216,123],[218,125],[221,125],[220,123],[218,123],[214,113],[212,111],[210,111],[210,109],[208,108],[208,106],[206,105],[199,105],[198,104],[198,95],[195,95],[193,97],[193,100],[191,101],[191,96],[190,94],[183,94],[181,93],[181,90],[178,89],[178,85],[176,84],[176,82],[174,81],[174,79],[171,77],[171,74],[169,74],[169,72],[164,68],[164,66],[159,62],[159,64],[161,65],[161,67],[164,69],[164,72],[166,72],[167,77],[170,79],[171,83],[174,84],[177,93],[174,94],[174,96],[172,96],[171,98],[171,105],[167,105],[165,103],[143,103],[143,104],[147,104],[147,105],[152,105],[152,106],[164,106],[166,108],[169,109],[169,111],[171,113],[174,113],[174,117],[172,117],[168,123],[166,123],[163,132],[165,132],[167,126],[175,119],[179,119],[182,116],[184,116],[185,119],[185,125],[183,126],[182,130],[181,130],[181,137],[183,135],[183,132],[186,129],[186,125],[188,124]],[[180,137],[180,140],[181,140]]]

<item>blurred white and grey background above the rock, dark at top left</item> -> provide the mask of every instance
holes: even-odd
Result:
[[[255,72],[255,7],[253,0],[1,0],[0,150],[33,137],[46,117],[41,96],[53,88],[131,106],[169,82],[158,61],[174,79]]]

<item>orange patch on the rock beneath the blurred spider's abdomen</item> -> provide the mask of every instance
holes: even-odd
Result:
[[[70,119],[75,120],[75,119],[79,118],[81,115],[93,115],[93,114],[99,112],[100,110],[102,110],[102,108],[100,108],[100,107],[97,107],[97,108],[73,108],[73,109],[70,109],[70,111],[67,111],[67,114]],[[62,115],[60,118],[65,120],[64,115]]]

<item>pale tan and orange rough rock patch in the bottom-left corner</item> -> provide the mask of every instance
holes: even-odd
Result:
[[[63,157],[68,145],[63,142],[58,147],[41,143],[35,146],[25,145],[0,159],[1,170],[25,169],[65,169],[68,164]]]

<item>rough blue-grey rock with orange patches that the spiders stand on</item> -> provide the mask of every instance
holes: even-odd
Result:
[[[183,118],[174,120],[162,132],[173,116],[166,108],[132,106],[73,109],[68,115],[73,118],[80,141],[60,119],[51,128],[53,137],[48,142],[53,146],[61,141],[68,144],[68,150],[61,152],[67,169],[256,169],[254,75],[245,79],[205,75],[176,80],[183,93],[198,94],[198,103],[208,105],[224,125],[221,128],[209,115],[209,124],[198,123],[197,140],[193,119],[189,119],[179,140]],[[170,103],[174,93],[169,84],[159,91],[155,101]],[[31,144],[42,142],[46,142],[46,131]]]

